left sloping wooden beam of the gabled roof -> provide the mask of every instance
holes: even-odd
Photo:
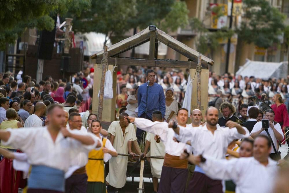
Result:
[[[108,48],[109,53],[108,57],[118,56],[119,54],[126,52],[129,49],[132,49],[138,45],[148,42],[149,36],[150,36],[149,28],[146,28],[141,32],[135,34],[134,36],[131,36],[114,45],[111,45]],[[103,50],[93,54],[91,58],[92,59],[103,58]]]

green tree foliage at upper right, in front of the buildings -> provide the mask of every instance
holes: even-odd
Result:
[[[217,49],[219,41],[230,38],[234,33],[238,34],[238,38],[246,43],[254,43],[258,47],[268,48],[274,43],[279,43],[278,36],[284,32],[289,34],[288,27],[285,29],[284,19],[286,18],[279,10],[272,7],[266,0],[243,0],[244,15],[242,22],[235,31],[227,29],[209,32],[203,22],[197,18],[190,20],[192,30],[199,32],[197,37],[197,49],[201,53]],[[215,18],[222,16],[221,7],[216,6],[212,12]],[[229,19],[229,18],[228,18]],[[287,31],[287,33],[286,33]],[[288,41],[289,41],[289,35]]]

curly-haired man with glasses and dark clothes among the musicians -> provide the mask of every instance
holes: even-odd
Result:
[[[223,102],[219,111],[223,114],[223,117],[219,118],[218,120],[220,127],[225,127],[227,121],[236,122],[237,117],[234,115],[236,108],[231,103]]]

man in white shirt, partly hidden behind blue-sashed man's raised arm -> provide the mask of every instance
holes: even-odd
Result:
[[[77,129],[81,133],[87,133],[86,128],[82,127],[82,120],[79,113],[71,113],[68,118],[68,125],[71,130]],[[68,126],[67,126],[68,128]],[[87,175],[86,175],[86,163],[88,162],[88,154],[80,152],[72,161],[72,166],[79,166],[79,169],[66,179],[65,192],[83,192],[86,193],[87,188]]]

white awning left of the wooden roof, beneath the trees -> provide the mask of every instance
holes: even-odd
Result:
[[[75,34],[75,46],[83,48],[84,56],[90,56],[95,52],[102,50],[104,41],[105,34],[95,32]],[[110,39],[108,39],[106,45],[111,45]]]

